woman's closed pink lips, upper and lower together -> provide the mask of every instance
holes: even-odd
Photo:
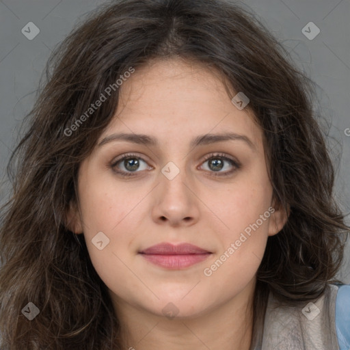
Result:
[[[202,262],[212,253],[189,243],[159,243],[142,250],[139,254],[154,265],[166,269],[184,269]]]

